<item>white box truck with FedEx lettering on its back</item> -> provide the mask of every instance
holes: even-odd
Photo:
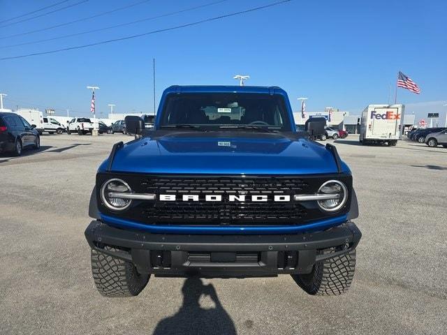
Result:
[[[368,105],[360,121],[360,143],[395,146],[402,140],[405,105]]]

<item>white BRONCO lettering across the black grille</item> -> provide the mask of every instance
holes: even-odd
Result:
[[[205,198],[200,198],[197,194],[184,194],[180,195],[179,199],[177,199],[177,195],[175,194],[160,194],[159,195],[160,201],[205,201],[205,202],[221,202],[221,201],[228,201],[228,202],[288,202],[291,201],[290,195],[274,195],[273,197],[270,197],[268,195],[228,195],[228,198],[223,198],[222,195],[219,194],[207,194],[205,195]]]

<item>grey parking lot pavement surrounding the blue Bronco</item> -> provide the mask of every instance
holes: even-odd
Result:
[[[131,139],[44,135],[39,152],[0,156],[0,334],[447,334],[447,149],[328,141],[360,207],[346,295],[309,296],[286,275],[152,277],[108,299],[91,278],[87,208],[96,168]]]

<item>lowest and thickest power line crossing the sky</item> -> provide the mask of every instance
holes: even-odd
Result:
[[[158,29],[158,30],[154,30],[154,31],[148,31],[147,33],[142,33],[142,34],[137,34],[137,35],[132,35],[132,36],[125,36],[125,37],[121,37],[121,38],[114,38],[112,40],[102,40],[101,42],[96,42],[96,43],[90,43],[90,44],[85,44],[85,45],[77,45],[75,47],[64,47],[62,49],[57,49],[57,50],[49,50],[49,51],[43,51],[43,52],[34,52],[32,54],[22,54],[20,56],[3,57],[3,58],[0,58],[0,61],[4,61],[6,59],[17,59],[17,58],[38,56],[38,55],[41,55],[41,54],[54,54],[55,52],[62,52],[62,51],[68,51],[68,50],[82,49],[82,48],[85,48],[85,47],[92,47],[94,45],[101,45],[101,44],[106,44],[106,43],[118,42],[118,41],[121,41],[121,40],[130,40],[131,38],[137,38],[137,37],[141,37],[141,36],[158,34],[158,33],[161,33],[163,31],[171,31],[171,30],[182,29],[182,28],[186,28],[186,27],[192,27],[192,26],[196,26],[198,24],[202,24],[202,23],[205,23],[205,22],[221,20],[221,19],[224,19],[226,17],[231,17],[231,16],[235,16],[235,15],[242,15],[242,14],[246,14],[246,13],[251,13],[251,12],[254,12],[255,10],[261,10],[261,9],[269,8],[269,7],[272,7],[272,6],[277,6],[277,5],[281,4],[281,3],[286,3],[286,2],[290,2],[290,1],[292,1],[292,0],[277,1],[277,2],[274,2],[274,3],[269,3],[268,5],[254,7],[254,8],[249,8],[247,10],[241,10],[239,12],[229,13],[229,14],[225,14],[225,15],[219,15],[219,16],[216,16],[216,17],[210,17],[210,18],[205,19],[205,20],[200,20],[200,21],[191,22],[191,23],[187,23],[187,24],[181,24],[181,25],[175,26],[175,27],[169,27],[169,28],[165,28],[165,29]]]

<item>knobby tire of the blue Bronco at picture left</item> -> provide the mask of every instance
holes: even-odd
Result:
[[[117,248],[105,247],[110,251]],[[91,249],[91,273],[96,288],[105,297],[135,297],[149,281],[149,274],[139,274],[132,263]]]

